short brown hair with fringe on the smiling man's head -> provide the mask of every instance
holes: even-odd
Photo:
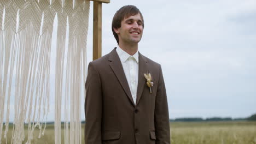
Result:
[[[124,7],[121,7],[114,15],[112,20],[112,32],[114,34],[115,39],[117,40],[117,43],[119,44],[118,34],[115,33],[114,28],[120,28],[121,27],[121,21],[123,21],[126,17],[129,17],[131,15],[141,15],[142,19],[142,27],[144,28],[144,20],[143,16],[141,14],[141,11],[134,5],[125,5]]]

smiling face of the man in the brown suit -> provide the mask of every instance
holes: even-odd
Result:
[[[119,44],[137,44],[143,33],[141,15],[138,13],[125,18],[121,21],[121,27],[114,31],[118,34]]]

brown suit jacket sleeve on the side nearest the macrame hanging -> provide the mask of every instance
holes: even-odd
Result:
[[[102,90],[101,80],[95,65],[89,63],[85,82],[85,143],[101,143]]]

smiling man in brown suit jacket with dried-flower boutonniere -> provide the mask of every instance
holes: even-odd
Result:
[[[88,66],[85,83],[86,144],[170,143],[161,66],[138,52],[144,21],[126,5],[115,13],[118,46]]]

